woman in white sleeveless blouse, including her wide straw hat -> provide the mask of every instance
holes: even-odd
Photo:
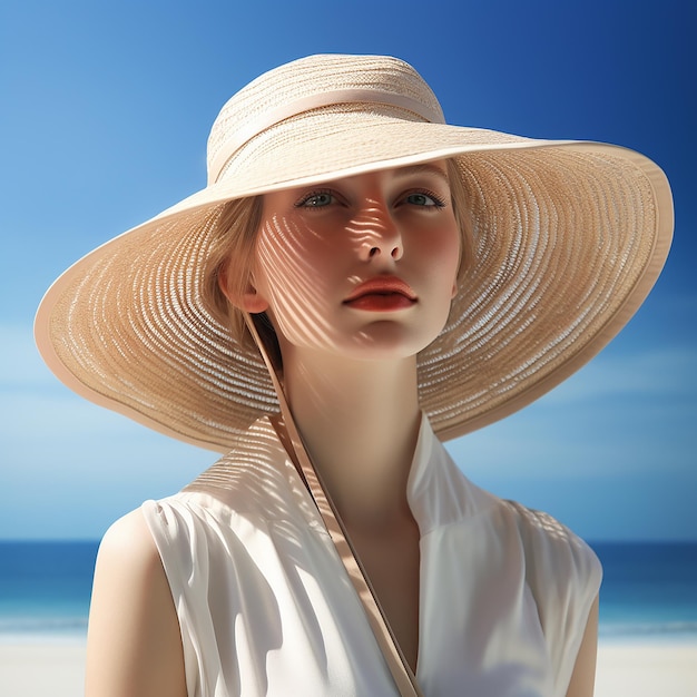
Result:
[[[596,557],[441,440],[628,321],[669,246],[660,169],[448,126],[410,66],[348,56],[240,90],[208,166],[37,320],[80,394],[227,453],[105,537],[87,694],[592,695]]]

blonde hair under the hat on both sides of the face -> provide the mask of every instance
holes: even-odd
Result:
[[[473,258],[474,240],[469,216],[468,195],[459,166],[454,159],[449,159],[446,166],[451,204],[455,222],[462,234],[458,268],[458,281],[460,281]],[[232,297],[242,297],[246,292],[256,258],[256,239],[262,224],[263,206],[263,196],[238,198],[228,200],[223,205],[213,229],[204,268],[204,303],[213,316],[230,330],[239,344],[251,351],[256,351],[256,347],[246,326],[244,313],[223,293],[220,279],[222,276],[225,276],[222,282],[226,285]],[[234,276],[229,276],[227,273],[232,258],[236,261]],[[281,366],[278,341],[268,317],[265,313],[253,315],[253,317],[272,360]]]

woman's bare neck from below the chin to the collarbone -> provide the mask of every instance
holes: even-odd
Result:
[[[415,357],[285,359],[295,423],[344,522],[370,528],[409,516],[406,482],[421,423]]]

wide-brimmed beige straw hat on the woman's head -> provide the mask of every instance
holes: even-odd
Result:
[[[387,57],[312,56],[235,95],[208,140],[208,185],[60,276],[39,307],[39,350],[82,396],[226,451],[278,405],[258,352],[202,298],[225,202],[443,158],[468,194],[474,258],[419,355],[421,403],[442,439],[501,419],[639,307],[668,253],[670,189],[628,149],[446,125],[423,79]]]

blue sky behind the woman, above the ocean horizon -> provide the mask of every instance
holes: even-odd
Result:
[[[0,538],[98,538],[214,454],[73,396],[31,325],[68,265],[205,184],[249,79],[391,53],[451,122],[610,141],[667,171],[676,239],[624,333],[560,387],[449,445],[590,540],[697,539],[697,53],[687,0],[428,3],[4,0],[0,8]]]

